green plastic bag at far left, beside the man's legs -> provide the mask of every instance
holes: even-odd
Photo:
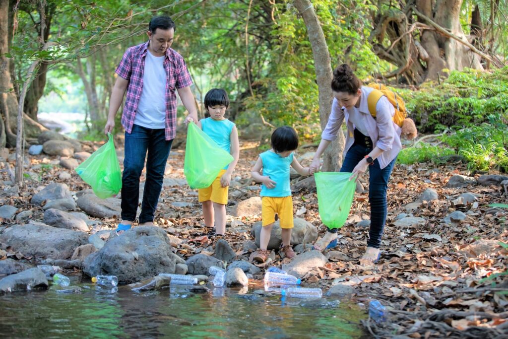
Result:
[[[90,158],[76,167],[78,175],[88,183],[99,198],[112,197],[122,188],[122,173],[116,156],[113,136],[108,134],[108,142],[94,151]]]

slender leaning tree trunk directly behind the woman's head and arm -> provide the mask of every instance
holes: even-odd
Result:
[[[333,78],[330,66],[330,52],[326,44],[325,35],[317,15],[309,0],[295,0],[295,8],[300,12],[307,27],[314,57],[314,68],[316,72],[317,88],[319,90],[319,112],[321,128],[324,129],[332,110],[332,88],[330,86]],[[341,131],[337,139],[332,142],[324,154],[323,171],[339,171],[342,164],[342,152],[344,150],[344,135]]]

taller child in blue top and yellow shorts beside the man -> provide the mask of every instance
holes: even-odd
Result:
[[[231,182],[231,174],[240,155],[238,130],[233,122],[224,117],[228,106],[229,98],[224,89],[210,89],[205,96],[205,108],[210,116],[199,120],[197,124],[219,147],[231,152],[234,158],[228,166],[220,170],[208,188],[199,189],[198,191],[198,199],[203,206],[205,226],[215,228],[213,245],[217,240],[224,239],[228,188]]]

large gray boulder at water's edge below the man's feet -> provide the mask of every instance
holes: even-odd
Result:
[[[111,274],[121,284],[131,284],[159,273],[174,273],[184,260],[171,251],[166,232],[156,226],[138,226],[109,239],[89,255],[83,272],[89,276]]]

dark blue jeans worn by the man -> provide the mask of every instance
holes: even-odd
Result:
[[[166,140],[164,129],[152,130],[134,125],[132,133],[125,132],[125,158],[122,175],[122,220],[134,221],[139,203],[139,178],[145,166],[146,180],[139,223],[153,222],[161,195],[166,162],[173,140]]]

